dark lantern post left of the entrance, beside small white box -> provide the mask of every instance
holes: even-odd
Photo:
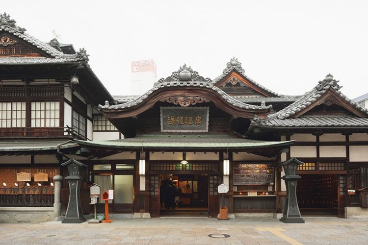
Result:
[[[70,159],[61,166],[67,166],[68,176],[65,177],[69,184],[69,202],[66,209],[65,219],[62,223],[81,223],[86,221],[83,216],[82,206],[80,204],[80,186],[82,184],[82,178],[80,176],[82,167],[87,165]]]

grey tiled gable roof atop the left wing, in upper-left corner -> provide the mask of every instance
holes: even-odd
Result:
[[[0,14],[0,31],[6,31],[11,33],[12,35],[23,39],[24,41],[28,42],[32,46],[41,49],[42,51],[48,53],[53,59],[57,61],[51,61],[52,58],[47,60],[43,59],[32,59],[24,60],[20,58],[8,58],[8,57],[1,57],[0,64],[7,64],[7,63],[42,63],[42,62],[69,62],[69,61],[87,61],[88,55],[85,53],[84,49],[80,49],[76,54],[65,54],[62,51],[53,48],[47,43],[44,43],[37,38],[27,34],[25,31],[26,29],[19,27],[16,25],[16,21],[10,19],[10,16],[6,13]],[[17,59],[17,62],[11,62],[10,59]]]

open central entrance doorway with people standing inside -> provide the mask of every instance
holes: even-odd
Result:
[[[207,174],[160,174],[160,217],[208,217]]]

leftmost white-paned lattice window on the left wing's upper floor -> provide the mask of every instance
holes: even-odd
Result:
[[[0,102],[0,127],[25,127],[26,102]]]

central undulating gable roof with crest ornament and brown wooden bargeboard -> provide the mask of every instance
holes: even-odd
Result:
[[[159,79],[158,85],[138,98],[116,105],[110,105],[106,101],[105,105],[99,105],[99,108],[108,118],[131,117],[149,109],[158,100],[172,95],[208,98],[216,106],[222,101],[225,105],[224,107],[228,108],[231,114],[239,117],[253,117],[256,113],[265,116],[272,108],[271,105],[266,106],[264,102],[257,106],[246,104],[230,97],[224,91],[214,86],[210,78],[200,76],[185,64],[177,72],[173,72],[172,75],[165,79]],[[114,112],[112,116],[107,115],[111,112]],[[120,115],[116,112],[120,112]]]

